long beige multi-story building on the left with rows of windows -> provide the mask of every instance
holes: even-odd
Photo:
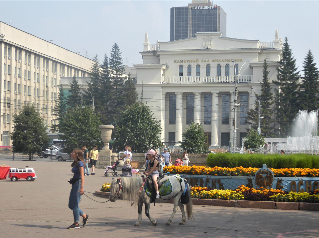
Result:
[[[10,146],[12,120],[33,103],[50,127],[60,77],[88,77],[93,61],[0,22],[0,146]]]

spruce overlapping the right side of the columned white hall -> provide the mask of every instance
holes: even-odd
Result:
[[[261,105],[261,119],[260,127],[261,133],[264,137],[273,137],[274,136],[274,128],[273,128],[273,95],[271,93],[271,85],[268,80],[269,70],[266,59],[263,63],[263,81],[260,82],[261,87],[261,95],[256,96],[254,107],[249,109],[247,121],[251,128],[257,131],[258,129],[258,110],[259,110],[259,97],[260,97],[260,105]],[[249,129],[247,129],[249,131]]]

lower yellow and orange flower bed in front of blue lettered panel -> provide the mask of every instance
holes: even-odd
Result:
[[[224,199],[248,201],[278,201],[278,202],[312,202],[319,203],[319,190],[308,192],[286,192],[279,189],[254,189],[239,186],[236,190],[211,190],[209,187],[192,187],[192,198]]]

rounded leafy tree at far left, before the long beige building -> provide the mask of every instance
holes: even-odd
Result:
[[[47,134],[48,126],[44,119],[34,108],[34,105],[26,105],[19,114],[13,115],[12,140],[13,152],[29,154],[40,153],[50,142]]]

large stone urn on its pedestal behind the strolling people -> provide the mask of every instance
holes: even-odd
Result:
[[[112,165],[117,159],[117,154],[113,153],[112,150],[108,148],[108,143],[112,137],[112,129],[114,126],[110,125],[100,125],[101,138],[104,143],[104,148],[99,151],[99,160],[97,161],[97,168],[105,167],[106,165]]]

